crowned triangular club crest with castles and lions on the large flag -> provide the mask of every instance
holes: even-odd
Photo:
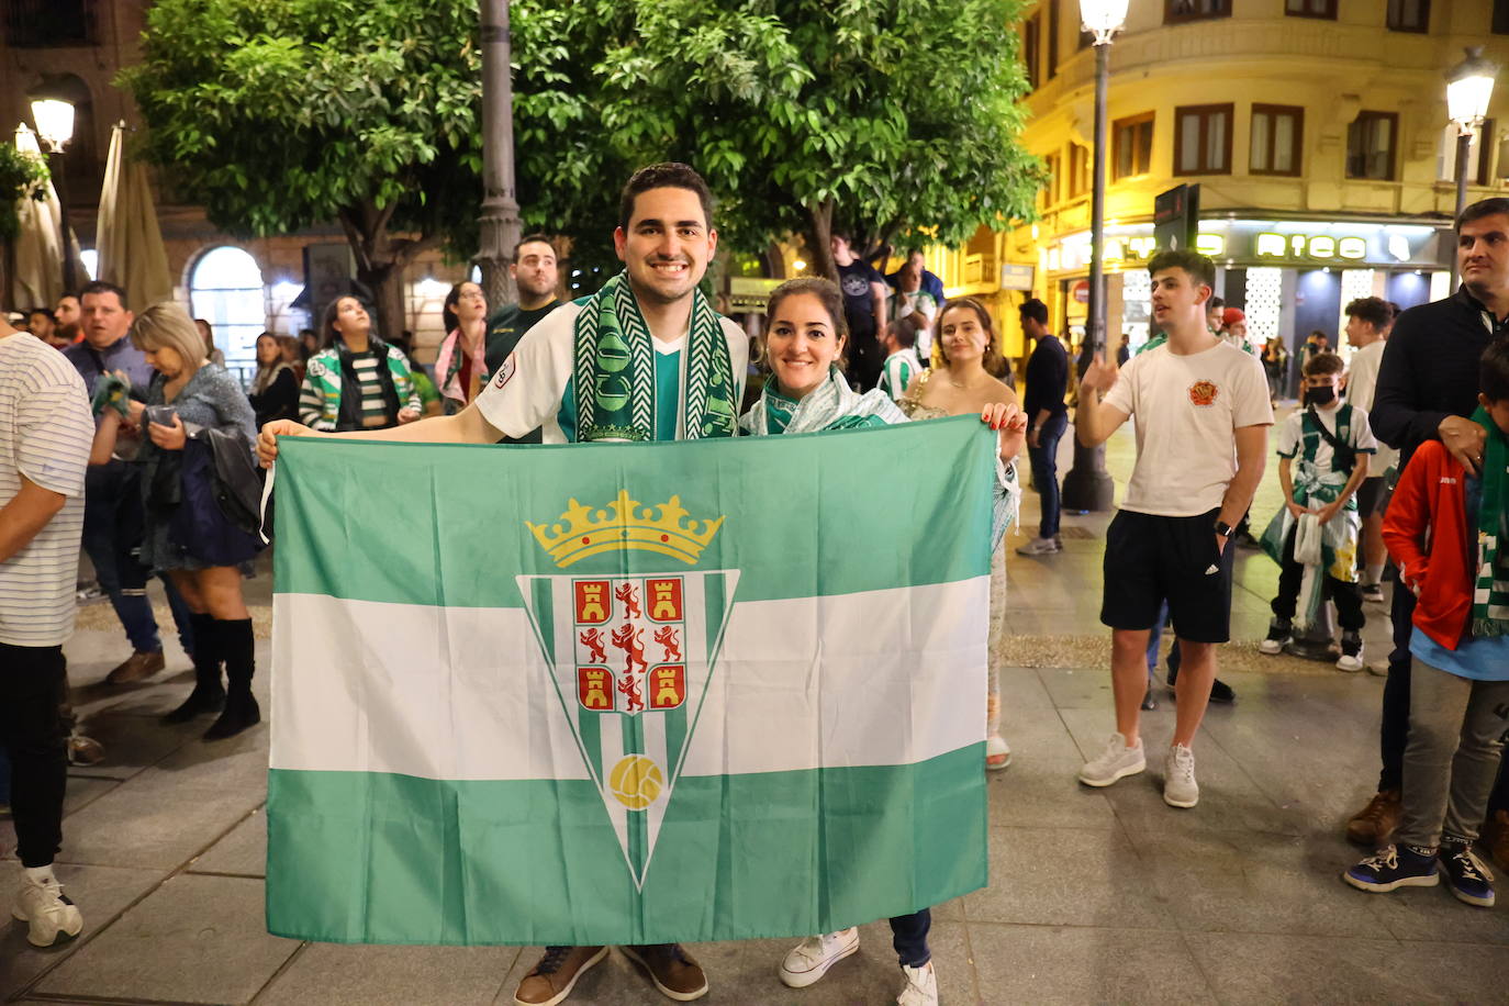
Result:
[[[626,572],[629,555],[696,564],[721,525],[723,517],[690,520],[676,496],[641,505],[626,490],[607,507],[572,499],[557,522],[527,523],[558,567],[582,561],[590,569],[585,560],[601,557],[611,570],[519,576],[518,584],[558,698],[554,707],[564,713],[605,825],[640,887],[709,691],[739,573]]]

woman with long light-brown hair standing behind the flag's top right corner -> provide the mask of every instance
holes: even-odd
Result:
[[[955,297],[939,312],[937,348],[942,367],[913,380],[898,404],[911,419],[979,415],[993,406],[1020,407],[1003,379],[1007,360],[996,348],[990,312],[973,297]],[[990,570],[990,695],[985,706],[985,768],[1011,765],[1011,747],[1000,736],[1000,668],[996,646],[1007,621],[1005,552],[996,549]]]

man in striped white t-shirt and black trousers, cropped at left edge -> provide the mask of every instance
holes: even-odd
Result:
[[[0,320],[0,745],[11,760],[21,890],[14,914],[39,947],[77,937],[62,893],[68,778],[59,703],[63,641],[74,632],[74,578],[85,526],[94,419],[85,382],[41,339]]]

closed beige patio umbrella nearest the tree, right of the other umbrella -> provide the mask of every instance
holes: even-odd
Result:
[[[124,288],[127,303],[140,311],[171,300],[174,281],[167,271],[167,250],[157,226],[146,167],[127,155],[124,122],[110,131],[95,246],[100,250],[100,279]]]

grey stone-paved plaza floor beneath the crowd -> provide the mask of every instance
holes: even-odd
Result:
[[[1130,437],[1109,451],[1118,483]],[[1068,462],[1064,445],[1064,468]],[[1023,466],[1025,475],[1025,466]],[[1277,507],[1269,472],[1254,507]],[[1037,526],[1028,493],[1023,526]],[[1067,517],[1065,551],[1011,555],[1008,629],[1105,639],[1097,623],[1105,514]],[[1010,547],[1026,535],[1014,534]],[[1236,643],[1268,623],[1277,567],[1237,563]],[[264,606],[270,576],[249,584]],[[1369,659],[1387,649],[1387,609],[1367,605]],[[98,620],[97,620],[98,621]],[[386,947],[297,943],[263,925],[269,731],[205,744],[207,725],[157,718],[186,694],[187,659],[125,688],[101,683],[125,656],[118,627],[68,644],[78,709],[107,759],[69,774],[57,873],[83,934],[36,950],[9,923],[14,867],[0,866],[0,1001],[20,1003],[512,1003],[534,947]],[[267,707],[269,646],[257,686]],[[1007,668],[1005,735],[1014,760],[993,774],[990,885],[934,912],[942,998],[967,1003],[1506,1003],[1509,906],[1468,908],[1444,887],[1366,894],[1338,873],[1358,858],[1342,825],[1378,774],[1382,679],[1325,665],[1310,673],[1222,673],[1239,692],[1212,706],[1195,754],[1200,805],[1159,790],[1172,700],[1145,713],[1148,772],[1111,789],[1074,781],[1114,728],[1105,659],[1089,667]],[[0,848],[12,848],[0,819]],[[528,869],[521,864],[519,869]],[[702,1001],[771,1006],[892,1003],[899,973],[884,922],[818,985],[783,988],[788,940],[696,944]],[[614,953],[572,1003],[655,1006],[662,998]]]

